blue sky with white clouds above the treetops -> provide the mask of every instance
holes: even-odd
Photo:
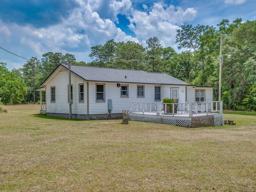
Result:
[[[1,0],[0,47],[25,58],[61,52],[88,62],[90,47],[109,39],[145,45],[157,36],[178,51],[181,25],[256,20],[255,9],[255,0]],[[26,60],[0,49],[0,62],[12,69]]]

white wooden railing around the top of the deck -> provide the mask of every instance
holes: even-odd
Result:
[[[170,112],[167,110],[170,106]],[[177,108],[177,111],[175,110]],[[222,101],[205,101],[205,102],[186,102],[186,103],[163,103],[163,102],[131,102],[130,112],[136,113],[156,113],[169,114],[187,114],[193,117],[194,114],[205,113],[222,113]]]

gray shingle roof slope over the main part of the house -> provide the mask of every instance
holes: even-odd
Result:
[[[67,65],[62,65],[68,68]],[[126,70],[105,67],[71,66],[71,71],[86,81],[190,85],[164,73],[150,73],[142,70]],[[126,78],[125,78],[126,77]]]

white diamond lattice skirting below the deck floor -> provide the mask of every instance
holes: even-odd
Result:
[[[129,114],[130,121],[170,124],[183,127],[204,127],[223,125],[223,114],[211,114],[197,117],[172,117],[163,115]]]

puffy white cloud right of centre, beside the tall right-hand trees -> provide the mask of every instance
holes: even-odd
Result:
[[[173,5],[155,3],[149,12],[133,11],[129,20],[129,28],[135,33],[140,42],[145,44],[150,37],[157,36],[163,46],[175,47],[176,31],[185,21],[196,17],[196,10],[186,10]]]

